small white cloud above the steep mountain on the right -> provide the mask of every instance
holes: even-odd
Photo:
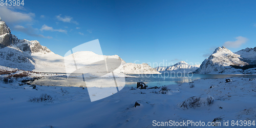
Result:
[[[239,48],[249,40],[248,38],[242,36],[238,36],[236,39],[236,41],[226,41],[223,46],[227,48]]]

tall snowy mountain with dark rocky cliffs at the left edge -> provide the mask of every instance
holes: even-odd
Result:
[[[64,72],[63,57],[54,54],[37,40],[18,39],[0,21],[0,65],[29,71]]]

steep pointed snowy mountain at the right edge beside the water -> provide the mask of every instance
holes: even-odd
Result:
[[[225,47],[217,48],[200,68],[195,71],[199,74],[247,74],[255,73],[251,68],[255,68],[255,50],[246,48],[236,53]]]

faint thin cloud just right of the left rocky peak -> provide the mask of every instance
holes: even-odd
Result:
[[[36,34],[38,29],[34,29],[31,26],[28,26],[27,28],[25,28],[24,26],[16,25],[16,26],[14,26],[13,30],[26,33],[27,35],[30,35],[30,36],[42,37],[42,38],[52,38],[51,36],[44,36],[42,34]]]

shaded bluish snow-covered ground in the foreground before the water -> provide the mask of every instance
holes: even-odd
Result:
[[[36,90],[1,81],[0,127],[154,127],[153,120],[207,125],[215,118],[221,127],[224,120],[233,127],[231,120],[256,120],[256,80],[230,79],[199,79],[146,90],[126,86],[94,102],[86,88],[36,86]],[[52,100],[29,101],[45,93]],[[136,101],[140,105],[135,108]]]

